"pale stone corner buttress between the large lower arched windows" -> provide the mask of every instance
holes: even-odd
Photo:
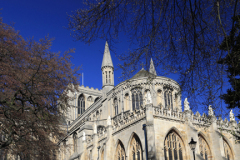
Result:
[[[156,148],[155,148],[155,132],[154,132],[154,118],[153,118],[152,103],[146,105],[146,128],[147,128],[148,160],[155,160]]]

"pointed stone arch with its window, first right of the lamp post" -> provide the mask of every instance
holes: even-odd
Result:
[[[204,160],[212,160],[212,151],[209,145],[209,139],[202,133],[198,133],[198,147],[199,147],[199,155],[202,156]]]

